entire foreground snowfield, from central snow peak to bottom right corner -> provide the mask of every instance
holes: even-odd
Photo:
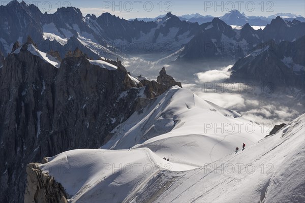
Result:
[[[301,202],[304,117],[262,140],[261,129],[205,132],[204,123],[249,121],[174,87],[104,146],[116,150],[67,151],[40,167],[64,186],[69,202]],[[232,153],[242,142],[246,149]]]

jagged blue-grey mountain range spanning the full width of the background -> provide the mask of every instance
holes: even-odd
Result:
[[[16,41],[24,43],[27,36],[31,36],[40,50],[58,51],[60,57],[64,57],[68,50],[79,48],[93,59],[116,59],[130,54],[155,52],[176,53],[187,59],[205,59],[212,55],[214,58],[235,60],[247,55],[251,46],[261,42],[271,39],[276,42],[292,41],[305,35],[305,23],[285,21],[280,17],[271,20],[264,30],[254,30],[249,23],[233,29],[229,26],[231,23],[228,25],[225,21],[231,21],[234,16],[240,17],[236,24],[247,20],[238,11],[221,18],[207,16],[211,18],[210,22],[199,25],[181,20],[172,13],[153,22],[145,22],[128,21],[109,13],[99,17],[83,17],[81,11],[74,7],[59,8],[54,14],[43,14],[35,5],[17,1],[0,6],[0,9],[0,48],[4,56],[11,52]],[[199,14],[184,16],[190,19],[198,17]],[[234,49],[236,43],[246,46],[241,50],[237,47],[238,52],[233,50],[230,53],[214,47],[230,43],[234,44]],[[202,52],[206,44],[212,46],[212,52]]]

